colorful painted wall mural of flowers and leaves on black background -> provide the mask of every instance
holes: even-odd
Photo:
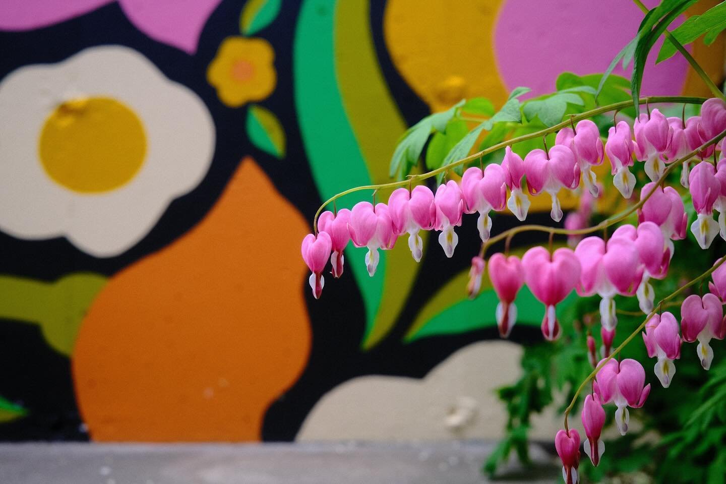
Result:
[[[516,369],[492,289],[465,298],[476,223],[448,263],[399,244],[369,277],[348,248],[319,301],[299,244],[423,116],[602,71],[637,29],[629,2],[561,0],[563,38],[545,4],[1,2],[0,440],[497,435]],[[678,57],[648,70],[645,94],[706,94]]]

